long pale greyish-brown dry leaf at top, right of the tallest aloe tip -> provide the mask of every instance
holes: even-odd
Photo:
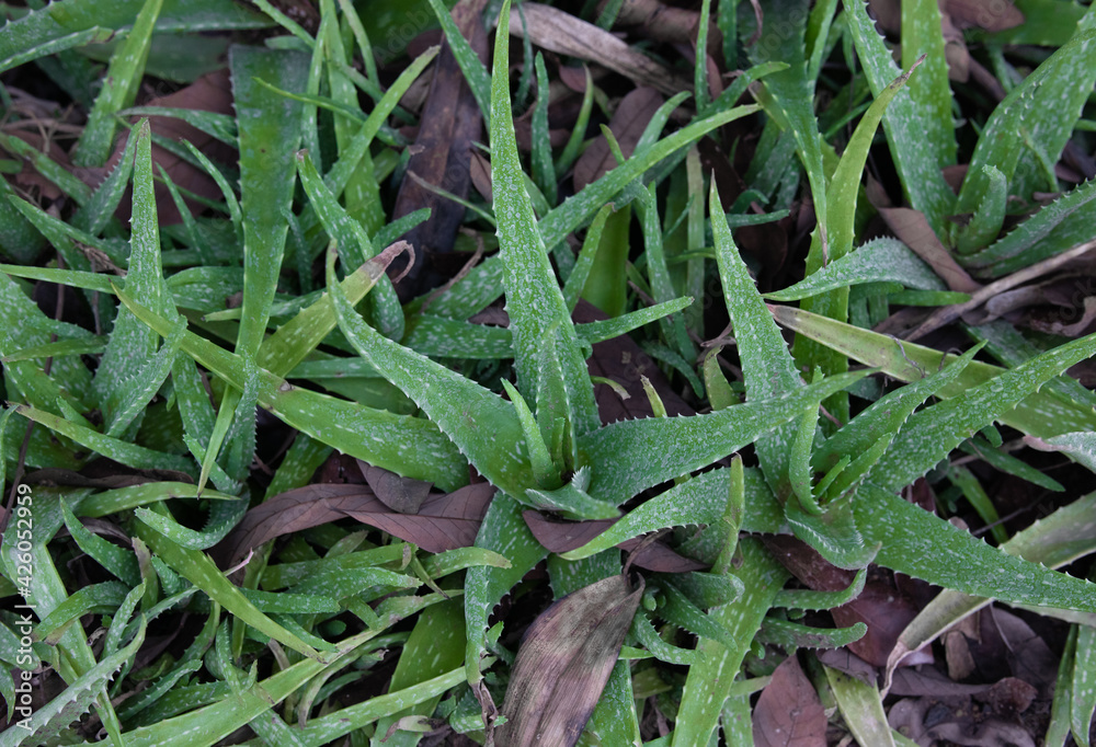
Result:
[[[520,13],[525,14],[524,24]],[[510,33],[523,36],[526,28],[536,46],[597,62],[640,85],[651,85],[670,95],[693,87],[692,81],[674,76],[609,32],[556,8],[538,2],[523,2],[521,10],[514,8],[511,11]]]

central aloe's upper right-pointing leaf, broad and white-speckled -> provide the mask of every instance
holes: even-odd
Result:
[[[707,415],[624,421],[601,428],[579,439],[580,463],[592,470],[590,494],[620,504],[757,440],[802,414],[808,402],[861,376],[831,377],[779,399],[755,400]],[[648,458],[637,461],[636,455]]]

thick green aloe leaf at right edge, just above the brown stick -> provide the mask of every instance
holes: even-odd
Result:
[[[987,248],[962,257],[963,266],[1000,277],[1087,241],[1096,215],[1094,198],[1096,182],[1077,185]]]

